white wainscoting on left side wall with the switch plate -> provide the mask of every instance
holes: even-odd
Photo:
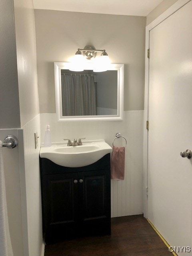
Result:
[[[28,254],[44,255],[42,239],[42,209],[40,188],[40,115],[22,127],[24,136],[24,169],[26,182]],[[35,149],[34,133],[38,132],[38,147]]]

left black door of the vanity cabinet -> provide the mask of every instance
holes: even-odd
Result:
[[[78,219],[78,173],[43,177],[46,243],[73,237]]]

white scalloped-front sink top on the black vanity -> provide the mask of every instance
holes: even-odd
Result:
[[[41,147],[40,157],[48,158],[55,164],[66,167],[82,167],[97,162],[112,152],[104,140],[82,141],[82,146],[67,146],[67,142],[53,143],[51,147]]]

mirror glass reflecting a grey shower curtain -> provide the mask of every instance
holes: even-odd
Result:
[[[117,70],[62,69],[61,92],[63,116],[117,115]]]

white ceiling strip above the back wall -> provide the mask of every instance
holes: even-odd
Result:
[[[35,9],[147,16],[162,0],[33,0]]]

